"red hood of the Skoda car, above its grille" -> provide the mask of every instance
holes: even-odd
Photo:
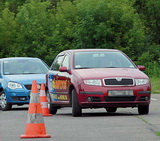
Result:
[[[103,79],[112,77],[148,78],[143,72],[135,68],[98,68],[75,70],[82,79]]]

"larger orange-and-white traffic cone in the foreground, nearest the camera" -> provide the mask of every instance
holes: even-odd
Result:
[[[28,109],[28,121],[25,134],[21,138],[50,138],[46,134],[36,80],[32,81],[31,97]]]

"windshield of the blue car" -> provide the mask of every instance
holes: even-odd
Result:
[[[45,74],[48,71],[47,65],[38,59],[7,60],[3,66],[4,75]]]

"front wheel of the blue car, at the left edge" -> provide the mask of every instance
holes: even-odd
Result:
[[[12,108],[12,104],[7,102],[6,94],[4,91],[0,93],[0,107],[2,111],[8,111]]]

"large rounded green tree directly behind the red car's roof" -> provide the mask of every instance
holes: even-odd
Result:
[[[145,50],[144,25],[129,0],[61,1],[56,22],[60,48],[116,48],[134,59]]]

